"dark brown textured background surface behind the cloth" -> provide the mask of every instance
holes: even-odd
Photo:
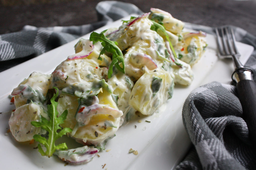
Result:
[[[256,36],[256,0],[121,0],[144,12],[151,7],[170,12],[185,22],[206,26],[225,24],[241,27]],[[99,0],[0,0],[0,34],[36,27],[82,25],[97,22]]]

